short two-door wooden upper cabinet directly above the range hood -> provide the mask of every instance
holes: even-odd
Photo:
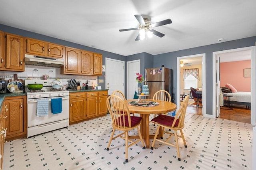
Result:
[[[26,43],[26,53],[45,57],[63,58],[64,47],[62,45],[35,40],[32,38],[27,38]]]

